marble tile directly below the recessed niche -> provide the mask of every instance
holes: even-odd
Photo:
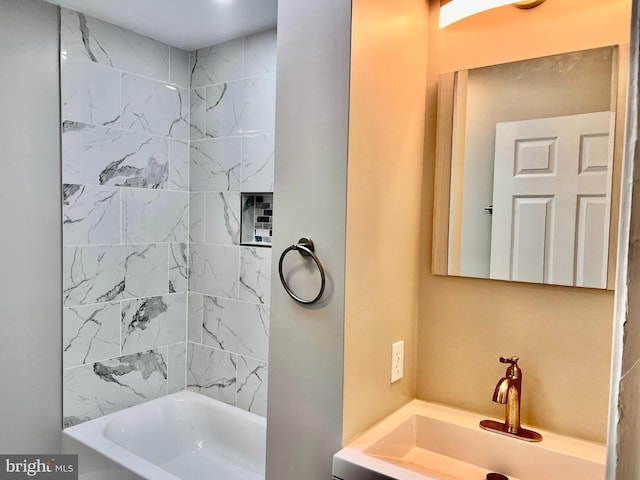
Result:
[[[271,295],[271,249],[240,248],[240,300],[269,304]]]

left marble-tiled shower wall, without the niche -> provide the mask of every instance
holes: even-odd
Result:
[[[189,69],[62,10],[65,426],[185,387]]]

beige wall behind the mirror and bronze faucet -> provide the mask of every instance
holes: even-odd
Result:
[[[500,417],[500,355],[524,371],[523,422],[604,442],[613,293],[430,273],[438,75],[521,57],[628,43],[630,0],[502,7],[440,30],[430,0],[417,396]]]

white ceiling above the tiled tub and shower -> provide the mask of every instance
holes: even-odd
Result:
[[[278,0],[46,0],[174,47],[200,47],[276,25]]]

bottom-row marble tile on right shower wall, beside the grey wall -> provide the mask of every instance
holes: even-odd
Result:
[[[268,366],[252,358],[238,357],[236,406],[267,416]]]

